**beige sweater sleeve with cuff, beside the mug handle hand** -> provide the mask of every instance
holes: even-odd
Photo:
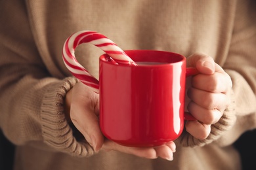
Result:
[[[256,127],[256,3],[238,1],[234,18],[234,30],[223,69],[232,78],[231,104],[205,140],[198,140],[186,131],[179,139],[183,146],[203,146],[234,143],[244,131]]]

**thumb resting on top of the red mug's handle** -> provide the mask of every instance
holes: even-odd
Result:
[[[205,75],[212,75],[215,72],[215,62],[213,58],[206,54],[192,54],[186,59],[187,67],[196,67],[198,71]]]

